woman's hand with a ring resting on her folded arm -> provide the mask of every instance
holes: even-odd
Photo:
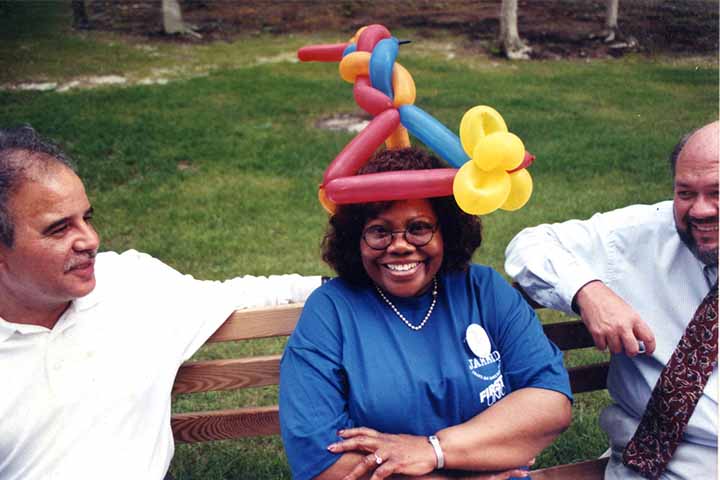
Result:
[[[387,478],[392,474],[420,476],[435,470],[437,458],[426,437],[392,435],[371,428],[348,428],[338,433],[344,440],[333,443],[333,453],[368,452],[355,465],[345,480],[361,478],[371,471],[371,480]]]

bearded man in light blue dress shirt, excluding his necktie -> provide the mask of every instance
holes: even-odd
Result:
[[[718,125],[676,146],[672,201],[527,228],[505,252],[507,273],[530,297],[579,313],[595,345],[613,353],[608,390],[614,403],[600,418],[611,445],[606,479],[642,478],[622,464],[623,449],[687,324],[717,282]],[[717,478],[717,377],[715,367],[661,478]]]

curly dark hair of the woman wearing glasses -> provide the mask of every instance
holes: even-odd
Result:
[[[396,170],[448,168],[436,156],[418,148],[383,150],[360,169],[358,175]],[[429,198],[438,217],[443,237],[443,263],[440,271],[465,270],[473,253],[482,243],[480,219],[457,206],[453,197]],[[360,257],[360,239],[368,220],[384,212],[393,202],[339,205],[330,217],[322,241],[322,256],[340,278],[351,283],[370,284]]]

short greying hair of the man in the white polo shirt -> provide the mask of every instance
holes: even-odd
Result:
[[[0,128],[0,242],[12,247],[15,224],[10,198],[33,171],[63,165],[73,172],[72,160],[51,140],[42,138],[30,125]]]

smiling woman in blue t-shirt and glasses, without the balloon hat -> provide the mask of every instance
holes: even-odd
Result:
[[[406,148],[360,174],[431,168],[446,166]],[[295,478],[524,477],[568,426],[562,354],[498,273],[470,265],[480,242],[452,197],[338,207],[323,241],[338,278],[307,300],[281,363]]]

